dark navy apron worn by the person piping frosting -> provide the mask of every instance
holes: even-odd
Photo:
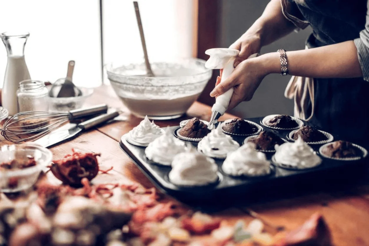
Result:
[[[294,2],[313,28],[308,48],[353,40],[365,28],[366,0]],[[314,92],[311,123],[342,140],[369,142],[369,82],[363,78],[314,78]]]

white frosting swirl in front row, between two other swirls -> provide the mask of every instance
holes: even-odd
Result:
[[[233,176],[263,176],[270,173],[270,162],[255,149],[254,143],[245,143],[227,156],[222,169]]]

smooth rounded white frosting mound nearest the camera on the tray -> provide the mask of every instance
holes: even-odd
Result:
[[[190,147],[174,157],[169,180],[179,186],[202,186],[217,181],[217,171],[213,159]]]

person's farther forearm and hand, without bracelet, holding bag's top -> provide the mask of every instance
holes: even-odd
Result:
[[[230,46],[240,51],[234,65],[237,66],[250,55],[260,52],[262,46],[284,37],[294,28],[296,26],[283,15],[281,0],[271,0],[261,17]]]

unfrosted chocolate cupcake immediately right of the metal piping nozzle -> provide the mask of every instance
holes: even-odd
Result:
[[[256,124],[236,118],[230,121],[225,121],[222,124],[222,130],[225,133],[234,135],[251,135],[258,132],[259,128],[256,126]]]

